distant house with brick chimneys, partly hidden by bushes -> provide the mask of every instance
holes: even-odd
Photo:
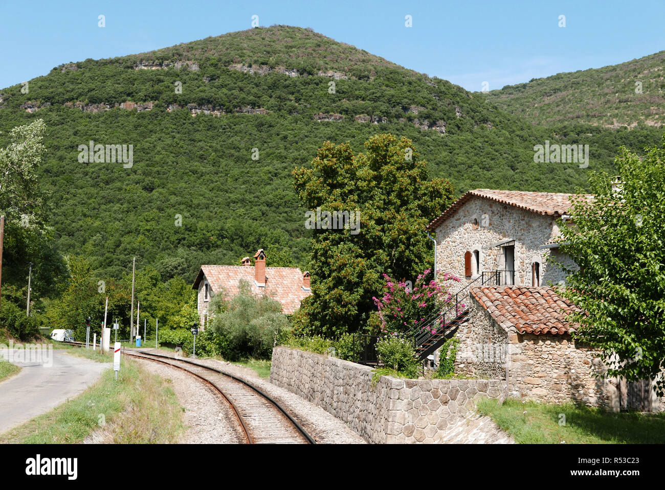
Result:
[[[267,295],[282,304],[282,313],[293,314],[300,302],[311,294],[310,274],[297,267],[266,267],[265,252],[260,249],[254,255],[254,265],[249,257],[241,260],[241,266],[201,266],[192,289],[198,291],[199,324],[205,328],[209,319],[208,305],[212,297],[224,291],[229,299],[237,295],[240,280],[249,282],[252,292]]]

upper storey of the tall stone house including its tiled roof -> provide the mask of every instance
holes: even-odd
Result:
[[[436,270],[462,278],[460,287],[497,279],[507,285],[563,283],[563,269],[547,258],[575,267],[554,242],[559,236],[557,220],[567,220],[571,196],[468,191],[428,226],[436,232]]]

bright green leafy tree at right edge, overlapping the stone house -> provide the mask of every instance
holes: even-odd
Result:
[[[572,225],[560,225],[580,267],[563,294],[581,309],[576,337],[602,351],[608,376],[653,379],[665,359],[665,136],[641,158],[622,147],[616,165],[620,183],[593,175],[595,199],[575,199]]]

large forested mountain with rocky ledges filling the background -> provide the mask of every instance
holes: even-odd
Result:
[[[200,264],[235,264],[257,248],[305,266],[311,230],[291,171],[326,140],[362,151],[376,133],[408,137],[430,177],[459,195],[574,191],[612,167],[620,145],[655,145],[662,132],[534,127],[487,99],[308,29],[257,28],[72,62],[2,89],[0,147],[12,127],[44,120],[39,172],[61,253],[88,257],[100,277],[119,278],[136,255],[164,280],[191,281]],[[545,140],[589,144],[589,168],[535,163]],[[90,141],[132,145],[132,162],[85,161]]]

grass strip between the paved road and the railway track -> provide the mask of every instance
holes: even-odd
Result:
[[[79,349],[84,350],[84,349]],[[167,380],[122,359],[82,394],[0,434],[0,444],[77,444],[95,430],[104,442],[169,444],[184,432],[183,409]]]

